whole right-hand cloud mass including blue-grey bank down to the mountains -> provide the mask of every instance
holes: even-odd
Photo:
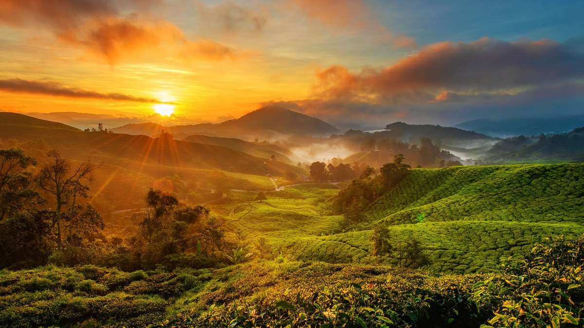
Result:
[[[583,98],[584,54],[577,47],[484,38],[433,44],[388,67],[328,67],[315,74],[310,99],[280,104],[354,128],[552,116],[558,108],[581,113]]]

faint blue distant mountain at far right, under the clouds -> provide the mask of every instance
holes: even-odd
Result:
[[[456,127],[481,132],[493,137],[513,137],[516,135],[538,135],[568,132],[584,126],[584,115],[548,118],[509,118],[506,120],[466,121]]]

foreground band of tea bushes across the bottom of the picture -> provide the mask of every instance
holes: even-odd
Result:
[[[565,326],[582,321],[584,236],[530,246],[497,274],[290,261],[124,272],[1,271],[3,326]],[[533,249],[532,249],[533,248]]]

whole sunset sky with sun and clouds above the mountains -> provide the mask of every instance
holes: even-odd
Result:
[[[584,114],[583,15],[582,1],[0,0],[0,110],[193,124],[276,103],[354,128]]]

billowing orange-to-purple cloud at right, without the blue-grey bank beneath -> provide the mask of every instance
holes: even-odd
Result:
[[[325,99],[398,104],[454,99],[449,92],[513,94],[583,77],[584,55],[561,43],[483,38],[432,44],[390,67],[360,73],[329,67],[317,72],[314,92]]]

